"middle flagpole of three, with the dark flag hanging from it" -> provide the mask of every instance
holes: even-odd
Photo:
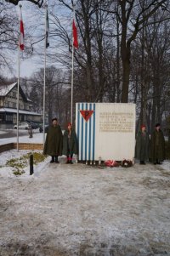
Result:
[[[46,88],[46,52],[47,52],[47,14],[48,5],[45,4],[45,40],[44,40],[44,73],[43,73],[43,145],[45,144],[45,88]]]

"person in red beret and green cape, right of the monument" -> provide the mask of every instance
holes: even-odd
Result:
[[[146,132],[146,127],[143,124],[141,130],[137,134],[135,156],[139,159],[140,164],[145,164],[145,161],[149,159],[149,143],[150,137]]]

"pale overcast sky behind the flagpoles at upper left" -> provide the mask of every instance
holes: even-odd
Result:
[[[23,1],[20,3],[22,4],[22,18],[24,22],[25,37],[27,35],[28,28],[29,28],[29,33],[31,33],[33,37],[37,37],[38,34],[42,36],[43,32],[45,32],[45,29],[44,29],[45,9],[43,8],[39,9],[37,5],[30,2],[26,2],[26,1]],[[53,0],[50,1],[50,3],[53,3]],[[19,5],[15,7],[15,10],[16,10],[16,15],[20,17]],[[58,17],[60,15],[59,20],[63,23],[65,22],[65,19],[66,19],[64,14],[65,9],[64,10],[59,8],[50,9],[50,6],[48,6],[48,13],[50,12],[54,12],[54,14],[57,14],[57,12],[59,12],[59,14],[57,14]],[[50,15],[49,15],[49,18],[50,18]],[[50,24],[49,24],[49,30],[50,30]],[[25,43],[28,41],[29,41],[29,38],[27,37],[25,39]],[[50,38],[49,38],[49,44],[52,45],[52,40],[50,41]],[[42,55],[39,57],[36,54],[37,48],[42,49]],[[50,47],[47,49],[47,51],[50,52]],[[57,47],[57,45],[56,45],[56,51],[59,51],[59,48]],[[22,55],[26,59],[25,51],[23,52],[21,51],[21,56]],[[7,76],[7,77],[18,76],[18,51],[16,51],[13,55],[13,61],[14,61],[14,66],[13,66],[14,71],[12,71],[11,73],[9,71],[4,71],[3,73],[4,76]],[[54,65],[54,63],[52,64]],[[50,60],[48,60],[48,56],[47,56],[47,65],[50,65]],[[59,63],[56,63],[55,65],[56,67],[59,67]],[[33,55],[29,59],[23,60],[23,58],[21,57],[20,77],[30,77],[33,72],[38,71],[40,68],[43,68],[43,67],[44,67],[44,42],[42,41],[40,43],[37,43],[36,45],[34,44]]]

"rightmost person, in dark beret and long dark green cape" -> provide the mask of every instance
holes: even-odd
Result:
[[[150,160],[154,164],[161,164],[165,159],[165,139],[161,131],[160,123],[156,123],[154,132],[150,138]]]

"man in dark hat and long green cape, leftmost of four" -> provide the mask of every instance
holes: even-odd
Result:
[[[52,157],[50,162],[59,163],[58,156],[62,156],[62,145],[63,134],[57,118],[53,118],[52,124],[48,128],[43,154]]]

